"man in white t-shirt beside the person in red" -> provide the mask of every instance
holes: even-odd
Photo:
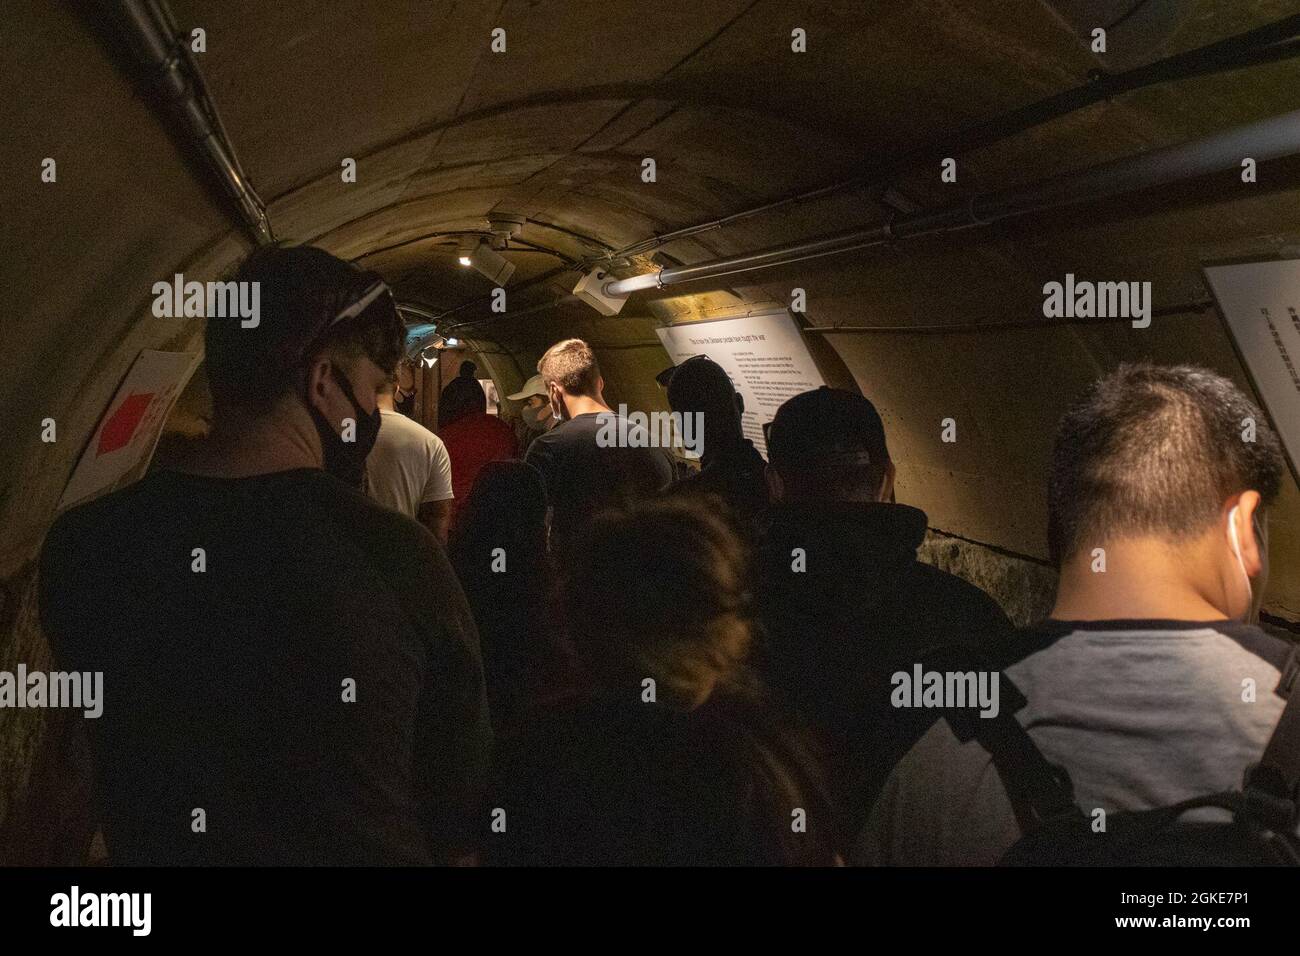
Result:
[[[442,438],[394,406],[395,377],[376,394],[384,424],[365,459],[367,490],[385,507],[417,519],[442,544],[451,525],[451,459]]]

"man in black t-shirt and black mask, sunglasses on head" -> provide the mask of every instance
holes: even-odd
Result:
[[[42,553],[61,666],[104,674],[109,857],[460,858],[491,743],[473,620],[429,532],[339,480],[380,428],[396,306],[311,247],[260,248],[237,281],[261,316],[208,320],[209,440],[64,514]]]

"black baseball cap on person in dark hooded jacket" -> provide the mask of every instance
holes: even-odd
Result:
[[[878,464],[889,460],[880,412],[864,397],[823,385],[788,399],[768,428],[767,460],[775,467],[807,467],[845,455]]]

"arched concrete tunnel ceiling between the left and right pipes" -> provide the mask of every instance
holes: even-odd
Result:
[[[1112,49],[1132,51],[1124,65],[1287,12],[1282,3],[1153,7],[1171,13],[1109,38]],[[280,233],[365,258],[434,308],[490,289],[455,267],[454,245],[436,233],[484,229],[493,212],[526,216],[521,239],[543,251],[514,256],[519,285],[1080,85],[1106,59],[1069,17],[1113,16],[1101,3],[1036,0],[382,8],[377,17],[351,4],[176,5],[182,23],[208,31],[209,85]],[[504,53],[489,49],[495,26],[507,31]],[[789,52],[794,26],[807,30],[809,53]],[[1268,114],[1284,77],[1288,65],[1261,68],[1083,111],[961,157],[958,189],[1024,182]],[[359,163],[355,185],[341,181],[344,156]],[[658,182],[641,182],[644,157]],[[893,185],[923,204],[953,198],[937,168]],[[876,221],[889,211],[871,195],[841,194],[666,251],[694,261]],[[998,280],[1017,271],[996,248],[976,256]],[[560,276],[512,306],[572,284]],[[1183,286],[1166,289],[1170,300]]]

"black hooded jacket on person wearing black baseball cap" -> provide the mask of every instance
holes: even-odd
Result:
[[[935,719],[890,705],[892,675],[930,648],[1011,632],[993,598],[916,561],[924,535],[926,512],[906,505],[777,505],[759,546],[755,663],[823,737],[849,827]]]

